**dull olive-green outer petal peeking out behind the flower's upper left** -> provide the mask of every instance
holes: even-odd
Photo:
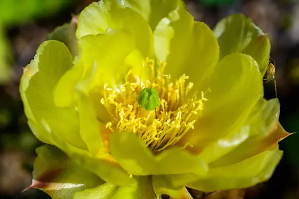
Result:
[[[57,40],[64,43],[73,57],[78,54],[78,44],[76,39],[76,29],[77,24],[74,22],[65,23],[62,26],[58,26],[55,28],[53,32],[48,34],[47,40]]]

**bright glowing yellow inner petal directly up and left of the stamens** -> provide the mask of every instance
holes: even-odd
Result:
[[[131,33],[110,30],[105,35],[85,36],[79,44],[87,77],[93,76],[91,88],[116,87],[122,82],[129,70],[124,61],[135,49]]]

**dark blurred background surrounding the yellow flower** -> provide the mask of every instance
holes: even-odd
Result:
[[[49,199],[39,190],[21,193],[31,184],[35,148],[42,145],[27,126],[18,86],[22,67],[48,33],[78,14],[92,0],[0,0],[0,199]],[[276,61],[280,122],[299,132],[299,0],[185,0],[195,20],[213,28],[221,18],[242,12],[269,35]],[[274,82],[265,98],[275,97]],[[299,134],[280,143],[284,157],[273,177],[247,190],[205,199],[299,199]]]

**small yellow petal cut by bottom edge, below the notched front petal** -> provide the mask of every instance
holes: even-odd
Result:
[[[161,199],[163,194],[171,199],[193,199],[185,187],[174,188],[165,176],[152,176],[151,179],[157,199]]]

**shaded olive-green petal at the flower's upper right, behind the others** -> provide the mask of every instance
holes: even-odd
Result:
[[[231,53],[245,53],[253,57],[264,75],[270,56],[270,41],[250,18],[232,14],[219,21],[214,28],[220,46],[220,59]]]

